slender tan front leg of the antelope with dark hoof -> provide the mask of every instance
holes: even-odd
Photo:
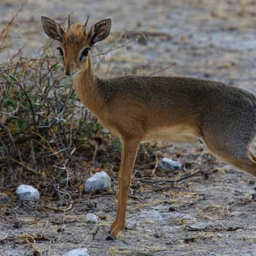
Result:
[[[107,240],[113,240],[118,237],[118,233],[125,227],[125,214],[127,206],[127,195],[131,183],[134,161],[136,159],[140,141],[124,141],[122,143],[122,159],[119,170],[119,195],[116,219],[111,225],[111,233]]]

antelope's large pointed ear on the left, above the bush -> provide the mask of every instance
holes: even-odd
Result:
[[[45,16],[41,17],[41,21],[45,34],[54,40],[62,42],[62,38],[63,35],[65,35],[65,31],[60,26],[60,23]]]

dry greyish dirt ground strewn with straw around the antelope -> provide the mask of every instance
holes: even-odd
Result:
[[[19,5],[1,0],[0,26]],[[223,81],[256,93],[255,7],[253,0],[28,0],[11,31],[10,51],[2,52],[0,60],[20,46],[36,56],[47,41],[40,16],[65,20],[73,12],[73,22],[87,15],[90,24],[113,20],[113,32],[98,51],[109,49],[118,33],[145,35],[100,63],[95,60],[100,76],[158,72]],[[157,154],[181,161],[186,170],[151,177],[149,167],[135,167],[127,220],[136,227],[125,229],[117,241],[105,241],[116,213],[115,176],[113,191],[83,195],[65,212],[46,211],[42,203],[49,198],[20,205],[12,196],[12,204],[0,209],[0,255],[36,255],[36,250],[63,255],[81,247],[91,256],[256,255],[255,178],[221,163],[201,144],[159,145]],[[195,172],[179,183],[168,182]],[[88,212],[100,216],[99,224],[84,222]]]

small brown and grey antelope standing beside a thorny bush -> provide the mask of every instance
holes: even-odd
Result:
[[[216,81],[189,77],[126,76],[101,79],[93,73],[91,49],[104,40],[111,20],[87,29],[70,25],[67,32],[55,20],[42,17],[46,35],[58,40],[65,74],[74,90],[104,127],[122,142],[118,209],[111,233],[125,227],[127,193],[142,141],[204,141],[218,157],[256,175],[250,146],[256,133],[256,98],[244,90]]]

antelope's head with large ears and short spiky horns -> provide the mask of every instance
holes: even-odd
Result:
[[[93,45],[108,37],[111,28],[111,19],[104,19],[94,24],[90,30],[87,29],[87,18],[85,23],[78,22],[71,25],[68,16],[67,32],[60,23],[48,17],[41,17],[45,34],[59,41],[60,55],[63,58],[65,74],[67,76],[83,72],[88,68],[91,58],[90,50]]]

